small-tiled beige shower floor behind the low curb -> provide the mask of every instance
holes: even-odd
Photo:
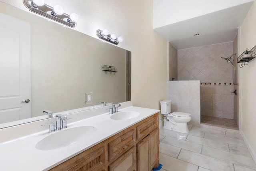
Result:
[[[234,119],[201,115],[201,123],[229,129],[238,129],[237,123]]]

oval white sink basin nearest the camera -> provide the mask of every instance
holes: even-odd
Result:
[[[96,132],[97,128],[92,126],[65,128],[55,131],[39,141],[36,144],[36,149],[46,151],[67,147],[80,141],[86,141],[90,135]]]

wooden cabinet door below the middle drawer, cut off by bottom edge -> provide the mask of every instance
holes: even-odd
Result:
[[[136,171],[136,147],[133,146],[108,166],[109,171]]]

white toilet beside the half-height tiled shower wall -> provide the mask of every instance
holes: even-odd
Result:
[[[164,117],[164,128],[172,131],[188,133],[188,122],[191,121],[191,114],[179,111],[171,113],[172,100],[160,101],[161,113]]]

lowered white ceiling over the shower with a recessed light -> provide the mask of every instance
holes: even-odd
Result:
[[[234,40],[237,34],[237,28],[242,25],[252,3],[253,0],[250,2],[247,0],[247,2],[243,4],[236,4],[236,6],[231,6],[230,8],[183,21],[176,21],[172,24],[154,28],[154,30],[178,50],[231,42]],[[181,10],[182,8],[180,8],[180,11]],[[190,13],[187,13],[187,15],[189,18]],[[166,20],[170,20],[170,16],[166,15],[164,17],[163,19],[163,16],[161,16],[161,20],[165,20],[165,22]],[[154,20],[158,19],[154,16]],[[200,33],[200,36],[193,36],[197,33]]]

